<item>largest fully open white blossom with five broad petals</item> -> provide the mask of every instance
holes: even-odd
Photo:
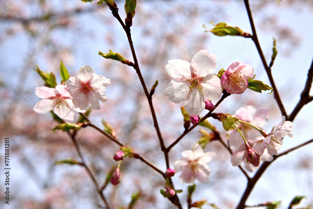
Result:
[[[220,79],[210,74],[216,67],[216,56],[208,50],[200,50],[187,61],[169,60],[165,69],[172,81],[165,89],[168,100],[178,104],[184,102],[189,115],[200,115],[205,108],[204,96],[217,100],[222,94]]]

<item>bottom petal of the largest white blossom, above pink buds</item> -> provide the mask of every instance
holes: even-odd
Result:
[[[184,102],[184,106],[189,115],[200,115],[205,108],[203,92],[198,89],[192,91],[190,99]]]

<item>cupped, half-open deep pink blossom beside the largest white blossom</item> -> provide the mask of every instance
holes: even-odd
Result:
[[[248,78],[253,78],[252,65],[233,62],[221,77],[221,85],[230,94],[242,94],[248,88]]]

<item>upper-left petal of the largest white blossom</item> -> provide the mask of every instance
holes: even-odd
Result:
[[[185,60],[168,60],[168,64],[165,65],[165,70],[167,71],[168,75],[173,78],[191,76],[190,63]]]

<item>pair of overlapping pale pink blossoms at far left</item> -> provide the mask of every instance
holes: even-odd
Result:
[[[106,102],[106,86],[110,79],[96,75],[91,66],[80,68],[76,76],[71,76],[64,85],[55,88],[36,87],[36,95],[42,100],[33,108],[38,113],[53,111],[59,118],[74,120],[74,112],[85,112],[91,109],[100,109],[100,103]]]

